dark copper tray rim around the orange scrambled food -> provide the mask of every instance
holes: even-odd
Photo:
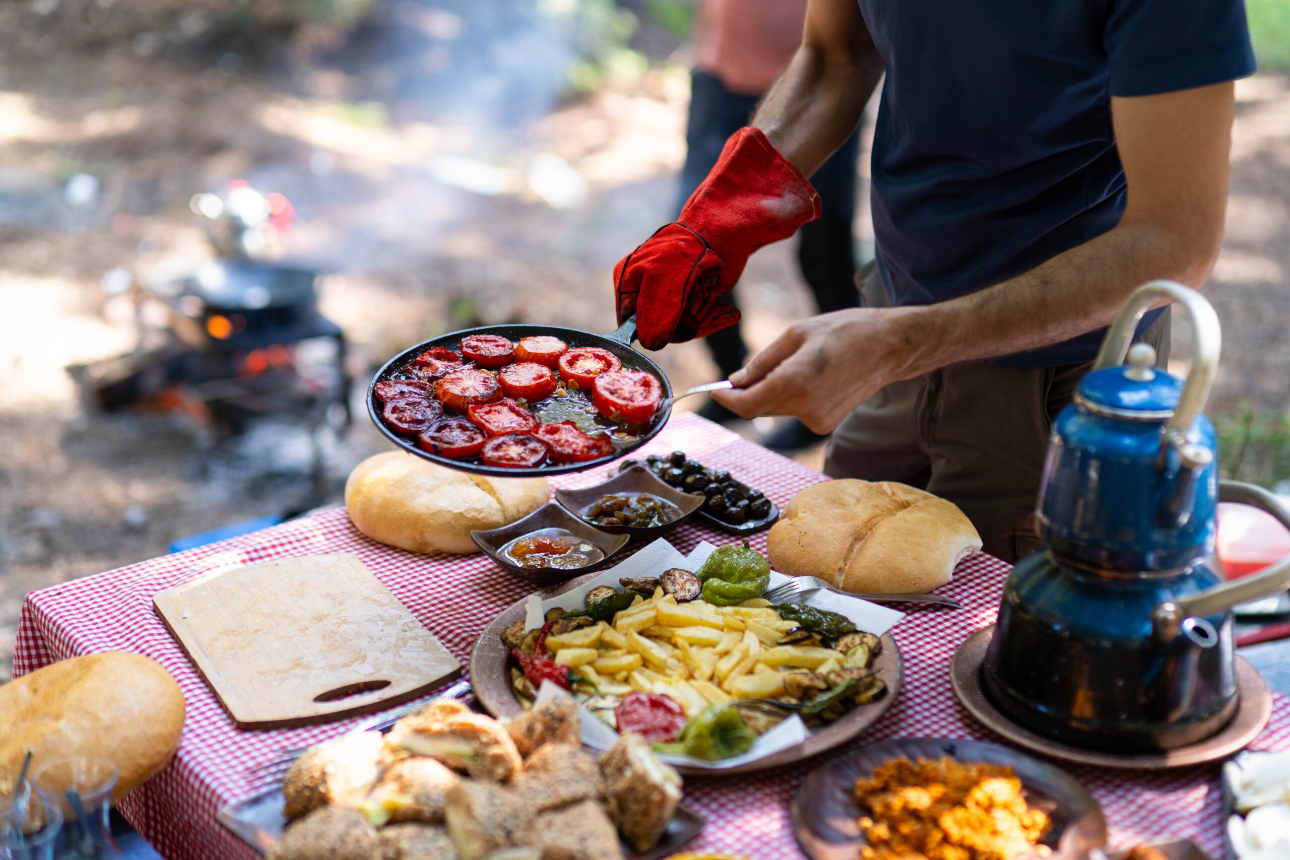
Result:
[[[789,807],[797,845],[811,860],[858,860],[866,839],[857,821],[860,806],[855,799],[855,780],[871,776],[891,758],[943,756],[1013,767],[1022,780],[1027,803],[1051,819],[1041,842],[1051,848],[1050,860],[1085,860],[1093,848],[1106,845],[1107,821],[1102,808],[1064,771],[1015,749],[953,738],[904,738],[866,744],[811,771]]]

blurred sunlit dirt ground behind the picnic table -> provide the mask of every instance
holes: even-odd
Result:
[[[566,57],[541,48],[541,28],[489,18],[485,5],[402,3],[308,63],[175,55],[137,39],[57,63],[35,50],[4,58],[0,681],[27,591],[312,499],[299,428],[268,424],[217,444],[183,415],[86,415],[63,371],[133,344],[123,308],[99,288],[106,269],[164,277],[209,255],[192,193],[245,178],[293,201],[298,222],[281,251],[329,271],[324,312],[353,342],[360,380],[452,326],[463,300],[485,322],[613,327],[614,262],[672,217],[688,81],[673,64],[562,97],[551,70]],[[1281,415],[1290,80],[1263,75],[1238,93],[1227,242],[1207,290],[1224,325],[1211,411],[1249,400]],[[538,191],[552,164],[580,177],[562,208]],[[480,165],[497,181],[489,193],[461,187]],[[99,187],[72,208],[66,183],[79,173]],[[791,242],[760,253],[739,291],[755,348],[811,309]],[[698,344],[660,361],[679,387],[715,374]],[[361,413],[343,438],[328,437],[332,498],[384,447]]]

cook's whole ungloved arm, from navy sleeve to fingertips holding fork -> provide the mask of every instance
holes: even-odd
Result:
[[[971,295],[795,322],[731,375],[740,389],[716,398],[744,416],[796,415],[828,432],[890,382],[1104,326],[1143,281],[1201,286],[1223,237],[1233,113],[1229,83],[1112,99],[1129,188],[1120,224]]]

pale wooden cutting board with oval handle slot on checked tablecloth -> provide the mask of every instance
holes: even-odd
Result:
[[[152,605],[239,728],[379,710],[462,673],[352,553],[221,571]]]

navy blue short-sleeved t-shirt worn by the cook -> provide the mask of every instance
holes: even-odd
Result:
[[[894,304],[974,293],[1115,227],[1112,95],[1254,71],[1242,0],[859,4],[886,61],[871,197]],[[1102,335],[996,362],[1089,361]]]

